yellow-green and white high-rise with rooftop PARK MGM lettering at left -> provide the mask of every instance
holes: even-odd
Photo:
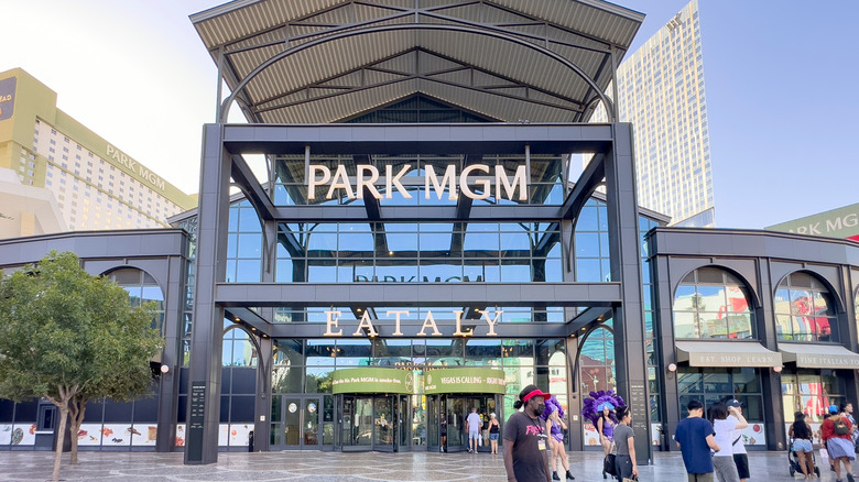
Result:
[[[193,196],[57,109],[56,92],[21,68],[0,73],[0,168],[53,193],[68,230],[164,228],[168,217],[196,206]],[[26,206],[15,212],[32,215]]]

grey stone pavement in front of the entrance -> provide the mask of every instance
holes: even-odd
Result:
[[[80,463],[63,458],[61,479],[66,481],[498,481],[507,480],[501,456],[488,453],[340,453],[287,451],[220,453],[218,463],[185,465],[182,453],[80,452]],[[599,482],[601,453],[569,453],[577,482]],[[51,479],[53,452],[0,452],[0,481]],[[817,458],[820,462],[820,458]],[[786,452],[749,454],[750,481],[802,480],[791,478]],[[824,461],[825,463],[825,461]],[[685,482],[679,452],[655,453],[653,464],[641,467],[640,479]],[[823,481],[835,481],[828,467]]]

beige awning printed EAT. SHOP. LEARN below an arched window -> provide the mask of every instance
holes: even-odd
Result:
[[[781,366],[781,353],[757,341],[676,341],[677,361],[689,366]]]

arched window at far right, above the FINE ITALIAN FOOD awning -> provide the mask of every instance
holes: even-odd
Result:
[[[791,273],[779,283],[773,310],[780,340],[838,341],[833,295],[809,273]]]

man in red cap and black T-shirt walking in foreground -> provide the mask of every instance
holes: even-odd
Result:
[[[540,415],[550,394],[528,385],[513,403],[517,412],[504,426],[504,470],[508,482],[552,482],[548,470],[548,443]],[[524,410],[519,408],[524,406]]]

